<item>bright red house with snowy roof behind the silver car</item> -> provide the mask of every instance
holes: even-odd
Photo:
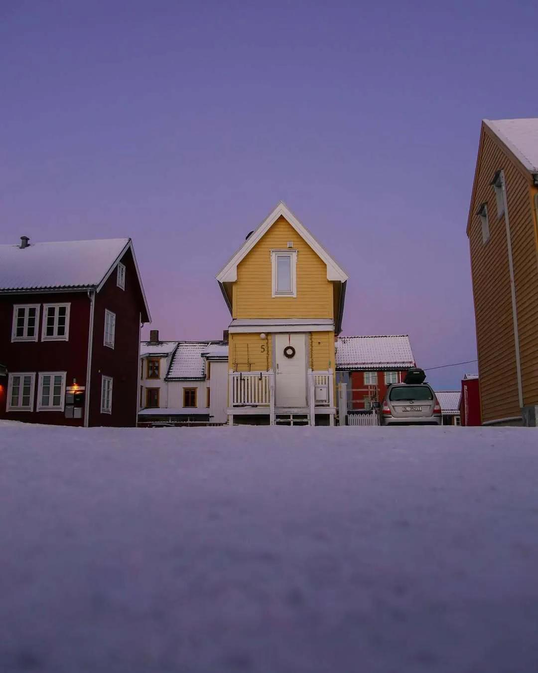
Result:
[[[401,383],[416,367],[408,334],[340,336],[336,347],[337,380],[347,384],[349,411],[368,411],[389,384]]]

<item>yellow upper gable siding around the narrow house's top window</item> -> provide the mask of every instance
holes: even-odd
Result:
[[[271,297],[271,250],[292,241],[297,255],[297,297]],[[232,290],[233,318],[333,318],[332,283],[326,264],[292,225],[279,217],[238,264]]]

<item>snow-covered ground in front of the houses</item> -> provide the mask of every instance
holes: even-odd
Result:
[[[0,423],[6,673],[535,673],[538,432]]]

